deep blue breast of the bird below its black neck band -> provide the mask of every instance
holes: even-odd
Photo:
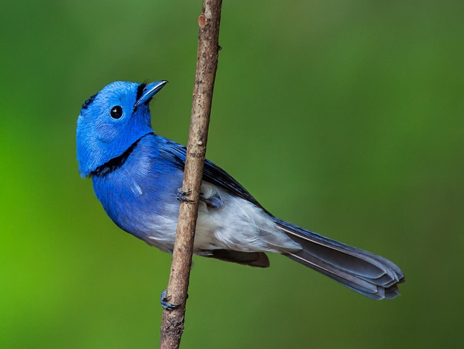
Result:
[[[177,188],[183,172],[160,156],[159,137],[142,137],[129,153],[101,168],[92,177],[95,195],[108,216],[121,229],[146,240],[157,216],[175,215]]]

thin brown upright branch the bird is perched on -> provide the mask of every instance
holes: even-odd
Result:
[[[221,5],[222,0],[203,0],[202,14],[198,18],[200,29],[198,34],[197,72],[182,184],[182,190],[187,193],[186,197],[192,201],[182,201],[180,203],[171,274],[167,288],[168,301],[180,305],[173,310],[165,309],[163,311],[161,349],[178,348],[184,330],[185,301],[187,299],[191,257],[194,248],[214,79],[220,49],[218,40]]]

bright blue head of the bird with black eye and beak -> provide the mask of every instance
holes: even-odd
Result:
[[[117,81],[105,86],[83,105],[76,130],[79,172],[89,176],[153,132],[149,103],[168,82],[148,85]]]

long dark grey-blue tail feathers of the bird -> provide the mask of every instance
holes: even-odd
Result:
[[[405,278],[390,260],[277,218],[276,224],[303,247],[285,256],[372,299],[391,299],[400,294],[398,284]]]

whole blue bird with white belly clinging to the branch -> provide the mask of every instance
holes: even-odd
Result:
[[[172,253],[186,149],[154,133],[149,102],[167,81],[114,82],[83,105],[76,130],[82,177],[121,229]],[[194,254],[256,267],[281,253],[373,299],[399,295],[400,268],[376,254],[274,217],[206,160]],[[165,307],[171,304],[163,302]]]

